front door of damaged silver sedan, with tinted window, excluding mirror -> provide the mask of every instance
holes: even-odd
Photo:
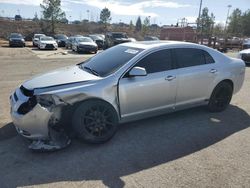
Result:
[[[176,70],[172,69],[170,50],[160,50],[140,60],[146,76],[124,76],[119,82],[122,117],[173,108],[176,96]]]

